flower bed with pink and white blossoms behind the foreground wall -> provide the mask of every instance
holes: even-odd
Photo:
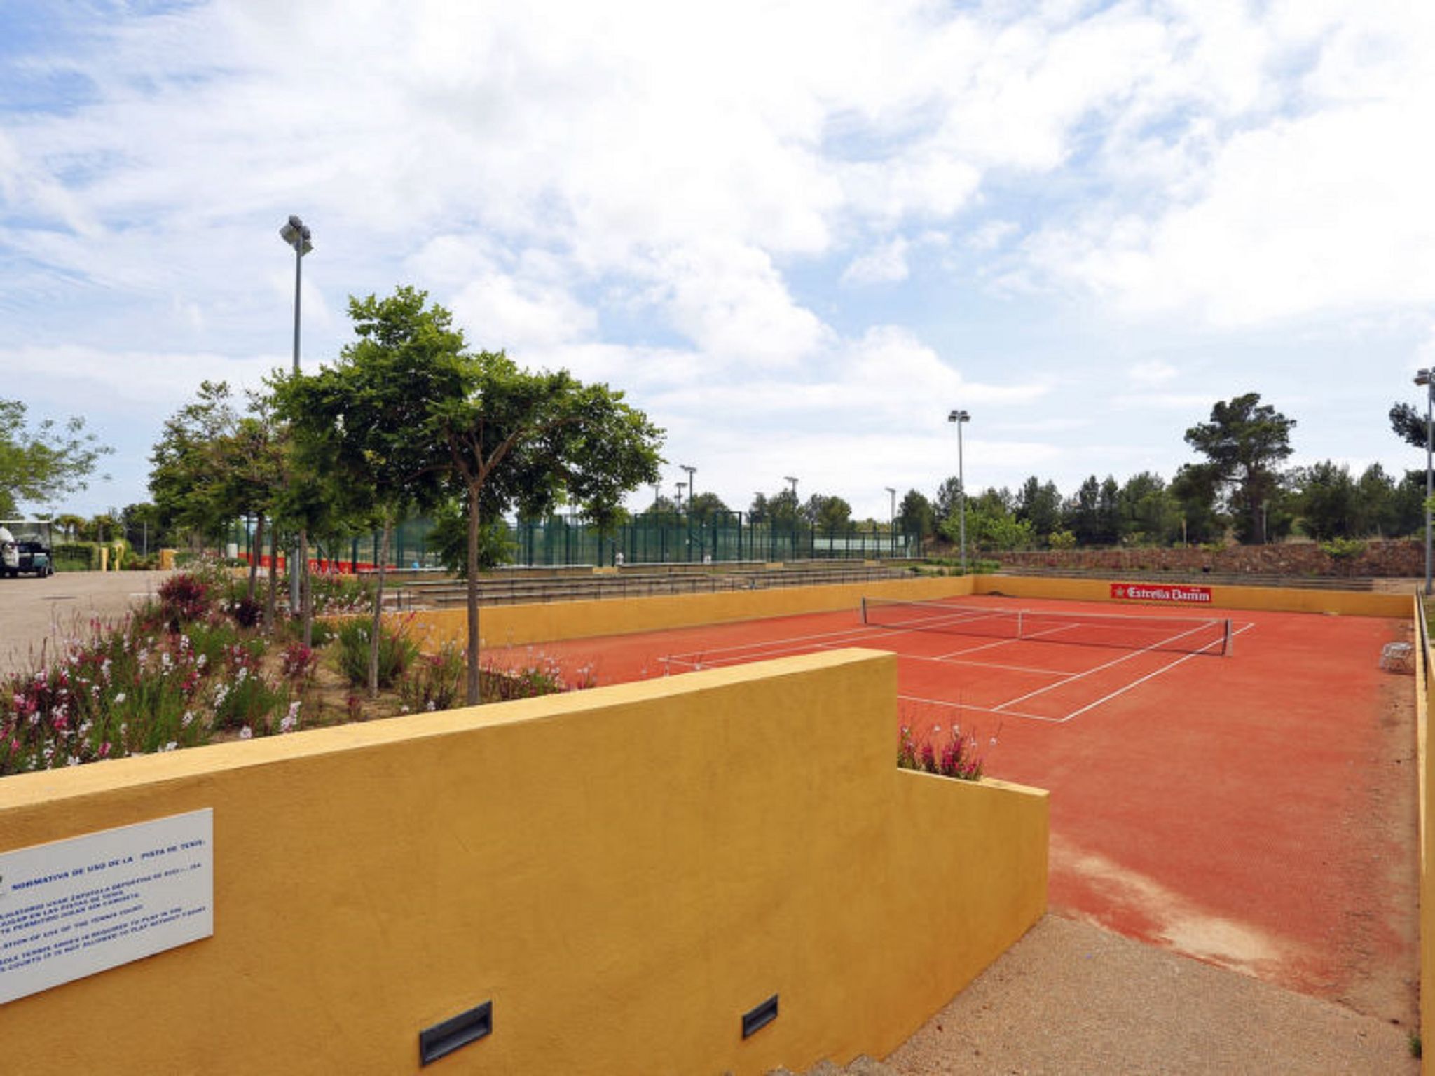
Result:
[[[321,581],[316,610],[357,613],[356,581]],[[465,654],[419,654],[406,626],[385,628],[377,699],[363,687],[367,618],[316,621],[313,647],[281,620],[273,634],[243,582],[218,570],[169,580],[123,623],[92,621],[65,651],[0,681],[0,776],[248,739],[300,727],[443,710],[464,702]],[[485,702],[585,687],[554,663],[485,669]]]

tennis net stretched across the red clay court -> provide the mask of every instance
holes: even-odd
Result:
[[[862,623],[904,631],[1181,654],[1230,654],[1231,621],[1201,617],[1125,617],[862,598]]]

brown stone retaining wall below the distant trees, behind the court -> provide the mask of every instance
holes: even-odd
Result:
[[[1027,568],[1213,571],[1253,575],[1424,577],[1425,545],[1419,541],[1369,541],[1358,557],[1336,558],[1316,542],[1233,545],[1220,551],[1190,549],[1036,549],[1000,554],[1003,565]]]

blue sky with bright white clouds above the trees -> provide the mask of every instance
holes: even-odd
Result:
[[[885,518],[956,471],[1170,478],[1244,392],[1292,463],[1422,466],[1435,6],[0,0],[0,395],[148,498],[202,379],[406,283],[604,380],[664,492]],[[650,492],[633,498],[640,506]],[[30,505],[43,508],[43,505]]]

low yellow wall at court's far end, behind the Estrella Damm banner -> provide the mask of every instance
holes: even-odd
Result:
[[[1069,601],[1112,601],[1111,580],[1063,580],[1033,575],[976,575],[974,594],[1010,594],[1022,598],[1065,598]],[[1157,578],[1151,580],[1158,581]],[[1131,582],[1131,580],[1121,580]],[[1121,601],[1122,605],[1171,603]],[[1350,617],[1408,617],[1411,600],[1403,594],[1370,594],[1350,590],[1300,590],[1296,587],[1211,587],[1210,605],[1180,605],[1185,615],[1203,608],[1248,608],[1271,613],[1336,613]]]

